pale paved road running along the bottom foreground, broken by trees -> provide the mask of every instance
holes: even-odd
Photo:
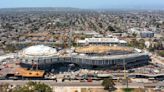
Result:
[[[102,87],[101,86],[101,82],[55,82],[53,80],[35,80],[36,82],[43,82],[45,84],[48,84],[50,86],[67,86],[67,87],[73,87],[73,86],[85,86],[85,87],[90,87],[90,86],[95,86],[95,87]],[[28,80],[0,80],[0,84],[1,83],[9,83],[12,85],[23,85],[25,83],[27,83]],[[124,84],[120,84],[117,83],[116,84],[117,87],[119,88],[124,88],[126,87],[126,85]],[[164,86],[164,82],[157,82],[157,83],[129,83],[129,87],[132,88],[143,88],[144,86],[147,87],[153,87],[153,86]]]

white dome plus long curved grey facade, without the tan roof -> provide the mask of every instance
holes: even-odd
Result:
[[[23,49],[19,52],[19,58],[22,66],[32,67],[32,65],[39,65],[41,69],[51,68],[56,63],[75,63],[80,66],[108,66],[114,68],[118,68],[118,66],[123,68],[123,65],[126,64],[126,67],[132,68],[145,65],[150,60],[149,55],[146,53],[123,53],[117,50],[106,55],[95,55],[94,53],[93,55],[88,53],[74,54],[73,52],[58,54],[55,48],[44,45],[35,45]]]

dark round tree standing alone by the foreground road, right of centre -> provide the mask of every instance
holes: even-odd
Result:
[[[114,91],[116,89],[115,83],[112,78],[105,78],[102,82],[102,86],[104,86],[104,89],[108,90],[109,92]]]

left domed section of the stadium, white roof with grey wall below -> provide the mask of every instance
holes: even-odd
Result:
[[[33,65],[44,64],[44,68],[57,62],[58,53],[55,48],[45,45],[30,46],[21,50],[18,57],[23,67],[32,67]]]

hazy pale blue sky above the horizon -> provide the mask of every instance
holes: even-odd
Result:
[[[13,7],[164,9],[164,0],[0,0],[0,8]]]

